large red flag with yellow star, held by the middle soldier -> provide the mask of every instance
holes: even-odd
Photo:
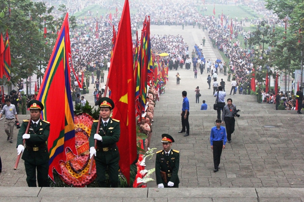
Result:
[[[113,118],[120,120],[119,167],[130,183],[130,165],[137,157],[135,86],[129,1],[125,1],[111,58],[108,87],[115,104]],[[117,81],[121,85],[117,85]]]

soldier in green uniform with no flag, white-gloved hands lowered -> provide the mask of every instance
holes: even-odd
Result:
[[[172,150],[174,139],[171,135],[161,135],[164,150],[156,152],[155,174],[158,188],[178,187],[179,151]]]

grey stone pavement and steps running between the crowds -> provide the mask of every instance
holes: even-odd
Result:
[[[154,33],[183,35],[190,52],[194,44],[199,44],[205,36],[206,46],[203,52],[207,59],[214,61],[219,57],[217,50],[211,47],[208,33],[202,32],[197,27],[193,29],[192,26],[187,26],[182,30],[181,26],[151,26],[151,34]],[[75,189],[58,188],[56,192],[54,188],[30,189],[26,187],[23,161],[20,161],[18,170],[13,170],[17,157],[16,141],[13,144],[6,141],[3,121],[0,121],[2,157],[0,201],[17,199],[32,201],[32,197],[36,197],[33,201],[55,201],[54,197],[65,201],[93,201],[92,198],[86,198],[92,196],[111,197],[109,199],[111,201],[133,201],[138,198],[143,201],[304,201],[303,115],[298,115],[295,111],[276,111],[275,106],[270,104],[258,104],[254,95],[227,95],[226,99],[231,97],[237,108],[241,109],[239,113],[241,116],[236,118],[231,144],[227,143],[226,149],[223,150],[221,168],[219,172],[214,173],[209,136],[211,127],[215,126],[216,111],[212,108],[215,102],[212,90],[207,89],[207,73],[206,71],[202,75],[198,73],[197,79],[194,79],[192,70],[178,69],[177,72],[182,78],[180,85],[176,85],[175,82],[176,71],[169,71],[166,93],[160,96],[160,101],[154,108],[150,147],[162,149],[160,142],[162,133],[174,137],[173,149],[179,150],[181,155],[180,188],[170,191],[158,189],[156,182],[150,182],[147,189],[136,189],[136,194],[133,193],[135,192],[133,189],[90,188],[75,191]],[[226,76],[222,74],[219,75],[219,79],[221,78],[227,81]],[[199,86],[202,94],[199,104],[195,103],[196,86]],[[94,102],[92,87],[90,85],[90,93],[85,95],[85,99],[91,104]],[[226,82],[227,94],[230,88],[230,82]],[[190,136],[188,137],[177,133],[181,130],[183,90],[188,92],[190,101]],[[200,110],[203,99],[208,104],[208,109],[205,111]],[[26,119],[29,115],[19,115],[19,117]],[[17,132],[18,130],[15,129],[15,135]],[[147,169],[153,168],[154,164],[155,156],[146,162]],[[155,180],[155,174],[151,177]],[[30,198],[19,198],[20,196]]]

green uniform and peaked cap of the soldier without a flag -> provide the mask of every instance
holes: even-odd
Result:
[[[163,134],[162,136],[164,136],[162,142],[165,142],[163,141],[165,139],[173,140],[173,138],[168,134]],[[170,142],[174,142],[174,140]],[[164,187],[169,187],[168,182],[173,182],[173,187],[177,188],[179,184],[178,169],[179,151],[170,149],[168,156],[166,155],[165,150],[156,152],[155,174],[157,184],[163,183]],[[165,183],[163,177],[161,176],[161,171],[166,173],[167,183]]]

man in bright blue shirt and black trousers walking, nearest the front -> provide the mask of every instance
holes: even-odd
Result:
[[[225,149],[225,144],[227,142],[226,129],[221,126],[222,120],[217,119],[216,126],[211,128],[210,133],[210,144],[213,150],[213,172],[219,171],[219,163],[221,161],[222,150]]]

